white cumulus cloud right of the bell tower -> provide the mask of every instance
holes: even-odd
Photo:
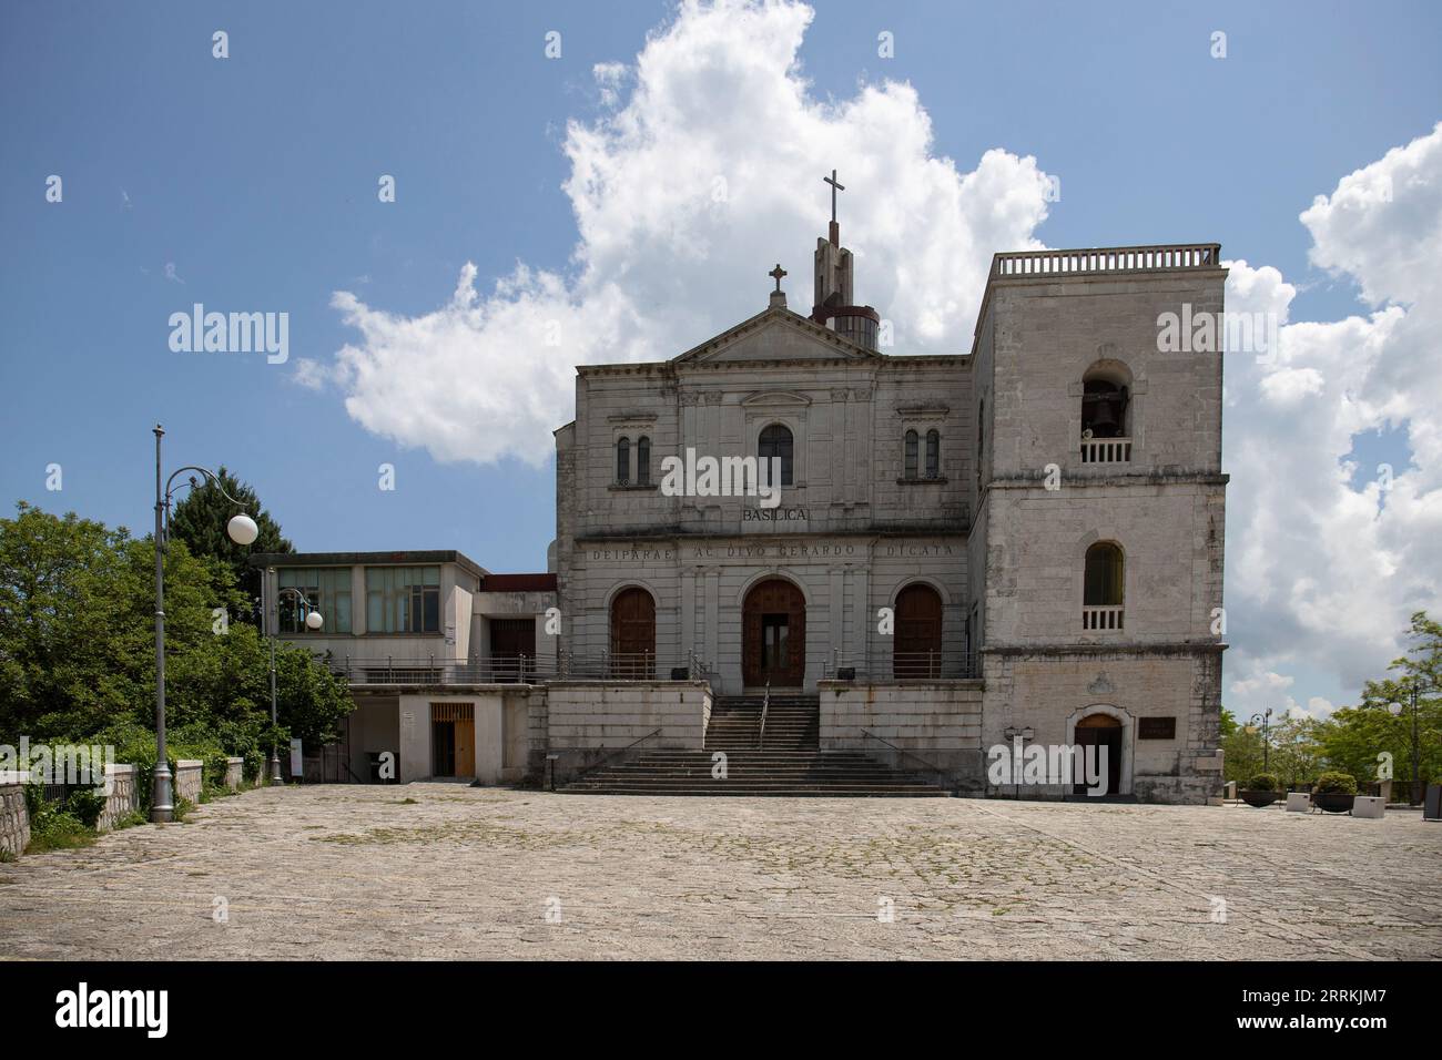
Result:
[[[1286,323],[1295,288],[1230,262],[1227,312],[1283,322],[1275,358],[1226,362],[1239,714],[1278,705],[1268,678],[1288,672],[1358,688],[1402,655],[1412,611],[1442,611],[1442,125],[1343,177],[1301,221],[1312,262],[1354,281],[1367,312]],[[1410,449],[1390,482],[1347,459],[1379,430]],[[1305,710],[1331,704],[1311,697]]]

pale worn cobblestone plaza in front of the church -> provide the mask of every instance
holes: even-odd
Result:
[[[1436,959],[1442,825],[265,789],[0,864],[0,956]]]

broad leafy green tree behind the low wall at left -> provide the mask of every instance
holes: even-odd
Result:
[[[235,622],[232,568],[166,549],[166,721],[176,747],[270,747],[270,650]],[[304,646],[277,650],[283,737],[333,740],[346,684]],[[143,753],[154,731],[154,545],[19,505],[0,519],[0,743],[76,740]]]

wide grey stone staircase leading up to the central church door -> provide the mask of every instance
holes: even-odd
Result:
[[[820,698],[773,694],[761,733],[760,695],[718,697],[711,705],[704,751],[639,750],[600,766],[562,790],[577,795],[949,795],[932,777],[893,769],[862,751],[822,751]],[[725,777],[712,756],[725,753]]]

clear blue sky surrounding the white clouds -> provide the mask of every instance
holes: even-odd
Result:
[[[492,570],[542,570],[544,457],[438,461],[424,433],[368,430],[345,388],[297,385],[296,366],[358,342],[337,290],[412,319],[451,297],[467,261],[482,291],[518,262],[574,277],[567,123],[614,112],[593,68],[633,63],[673,17],[659,3],[0,9],[0,496],[143,532],[159,420],[169,467],[225,463],[301,549],[460,548]],[[218,29],[228,59],[212,58]],[[544,53],[549,30],[559,59]],[[877,55],[883,30],[895,58]],[[1214,30],[1226,59],[1210,55]],[[1366,307],[1351,277],[1309,264],[1298,215],[1442,117],[1439,30],[1432,3],[823,3],[797,55],[815,101],[908,82],[930,156],[962,173],[989,149],[1034,156],[1061,180],[1032,232],[1047,245],[1218,241],[1296,286],[1292,320],[1331,322]],[[709,89],[721,120],[724,76]],[[819,176],[836,164],[845,182],[846,162],[815,159],[816,186],[795,192],[813,195],[815,232]],[[378,202],[382,173],[395,203]],[[49,175],[61,203],[45,199]],[[844,222],[867,195],[851,183]],[[668,332],[681,345],[655,356],[758,309],[779,254],[809,258],[806,244],[773,249],[718,244],[756,290]],[[1005,247],[969,251],[976,268],[992,249]],[[872,280],[862,271],[858,297]],[[172,352],[169,314],[196,301],[287,312],[290,363]],[[1358,436],[1357,453],[1410,461],[1397,423]],[[386,461],[394,492],[376,489]],[[1298,672],[1345,695],[1337,676]]]

